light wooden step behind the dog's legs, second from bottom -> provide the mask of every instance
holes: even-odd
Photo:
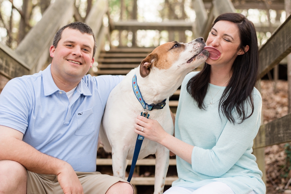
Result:
[[[131,162],[132,161],[128,162],[128,166],[131,166]],[[156,159],[141,159],[136,162],[137,166],[155,166],[155,164],[156,164]],[[111,158],[97,158],[96,165],[98,166],[109,165],[110,166],[112,165],[112,159]],[[169,165],[176,166],[176,159],[170,159]]]

